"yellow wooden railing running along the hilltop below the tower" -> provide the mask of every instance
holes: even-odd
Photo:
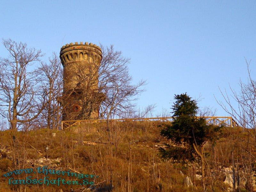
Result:
[[[200,117],[197,117],[200,118]],[[208,123],[213,123],[219,125],[221,123],[226,124],[227,126],[236,127],[238,124],[232,117],[223,117],[223,116],[204,116],[203,118],[206,119]],[[173,117],[150,117],[150,118],[129,118],[129,119],[108,119],[108,121],[168,121],[172,120]],[[61,129],[63,129],[63,125],[65,128],[80,125],[84,122],[104,122],[107,119],[88,119],[88,120],[69,120],[69,121],[61,121]]]

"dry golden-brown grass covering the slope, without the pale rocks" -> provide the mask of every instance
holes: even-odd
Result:
[[[162,123],[156,122],[116,122],[109,124],[96,123],[84,124],[65,131],[41,129],[29,132],[0,132],[0,148],[6,148],[10,153],[8,157],[0,160],[0,174],[8,171],[30,168],[26,162],[36,161],[42,157],[49,159],[60,158],[62,162],[54,167],[54,163],[49,164],[58,170],[68,169],[85,174],[99,175],[95,179],[96,186],[114,186],[113,192],[185,192],[202,191],[201,181],[195,179],[196,171],[191,166],[173,164],[160,158],[158,146],[163,145],[166,140],[160,136]],[[52,136],[56,133],[56,137]],[[236,134],[229,129],[219,142],[213,147],[211,144],[205,146],[205,151],[209,152],[207,159],[211,168],[216,172],[221,166],[231,164],[230,150],[233,144],[230,140],[236,141]],[[15,141],[13,140],[15,136]],[[84,141],[94,142],[95,145],[84,144]],[[227,145],[227,143],[230,145]],[[49,150],[45,150],[49,146]],[[238,152],[242,155],[241,152]],[[218,162],[218,163],[217,163]],[[35,167],[37,167],[35,165]],[[34,167],[32,167],[34,168]],[[183,184],[184,177],[180,170],[189,175],[196,187],[188,188]],[[30,173],[32,178],[43,178],[42,174]],[[19,177],[18,177],[19,176]],[[14,176],[14,178],[24,179],[26,174]],[[56,179],[57,175],[50,176]],[[75,180],[74,177],[62,176],[62,178]],[[80,185],[8,185],[8,178],[0,178],[0,191],[84,191]],[[223,175],[216,176],[216,180],[209,179],[208,188],[225,191],[227,188],[223,182]],[[78,179],[82,181],[83,179]],[[89,185],[87,185],[89,187]],[[106,190],[105,190],[106,191]]]

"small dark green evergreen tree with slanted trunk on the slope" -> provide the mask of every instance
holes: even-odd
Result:
[[[164,125],[161,131],[161,135],[171,140],[172,144],[165,144],[166,148],[160,148],[160,152],[163,158],[169,158],[174,162],[191,162],[199,157],[205,191],[203,147],[206,141],[215,142],[219,139],[223,125],[207,124],[205,118],[197,118],[196,100],[191,100],[187,93],[175,95],[174,99],[176,102],[171,108],[172,124]]]

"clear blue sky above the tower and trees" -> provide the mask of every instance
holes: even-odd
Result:
[[[114,44],[131,58],[134,83],[146,79],[138,106],[171,111],[174,94],[201,94],[201,107],[217,108],[221,90],[247,80],[244,57],[256,64],[255,1],[3,1],[1,38],[46,53],[70,42]],[[1,57],[7,55],[0,45]],[[235,105],[235,103],[234,103]]]

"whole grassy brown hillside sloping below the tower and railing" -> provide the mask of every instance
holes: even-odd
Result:
[[[202,191],[198,162],[182,165],[160,158],[158,148],[169,142],[159,134],[163,124],[159,121],[127,121],[110,124],[108,129],[106,123],[88,123],[65,131],[1,131],[0,191]],[[233,160],[236,171],[247,169],[247,172],[241,172],[243,177],[248,173],[246,186],[241,191],[252,190],[253,180],[249,179],[249,174],[254,170],[255,152],[248,144],[252,142],[247,132],[227,128],[215,145],[206,144],[208,191],[228,190],[228,185],[223,183],[223,169],[232,165]],[[36,168],[45,165],[47,169],[66,172],[60,175],[57,172],[39,173]],[[33,172],[26,174],[21,170],[22,173],[16,172],[17,175],[12,172],[26,168],[32,168]],[[2,176],[7,172],[12,175]],[[28,176],[32,176],[31,180],[49,177],[47,179],[52,180],[52,184],[47,186],[47,181],[45,184],[22,184]],[[193,186],[184,185],[186,176],[191,178]],[[53,180],[59,177],[75,182],[64,185],[60,182],[58,186]],[[85,179],[95,184],[85,182],[87,185],[80,185]]]

